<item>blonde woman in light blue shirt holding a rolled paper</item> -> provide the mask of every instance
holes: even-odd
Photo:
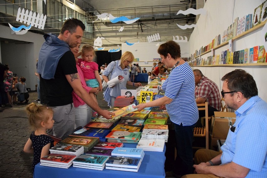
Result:
[[[114,102],[116,97],[121,95],[121,89],[127,89],[126,85],[139,87],[142,86],[141,83],[134,83],[131,82],[129,79],[129,69],[131,64],[134,60],[133,53],[126,51],[123,53],[120,60],[113,61],[108,64],[107,69],[104,71],[103,79],[108,82],[107,76],[110,75],[110,80],[117,77],[118,75],[122,75],[124,78],[123,82],[120,82],[116,85],[114,85],[112,88],[107,87],[107,89],[104,91],[104,99],[107,101],[107,105],[110,107],[114,107]],[[134,66],[136,68],[136,66]]]

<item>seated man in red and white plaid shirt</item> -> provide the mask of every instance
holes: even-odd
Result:
[[[221,111],[220,90],[212,80],[205,77],[199,69],[194,69],[196,104],[208,102],[208,115],[214,115],[214,111]],[[199,117],[205,116],[205,110],[199,111]]]

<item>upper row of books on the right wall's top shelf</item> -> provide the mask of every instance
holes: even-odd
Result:
[[[265,22],[267,19],[267,13],[265,10],[266,7],[267,7],[267,1],[264,1],[264,3],[260,4],[257,8],[254,9],[254,14],[247,14],[244,15],[243,17],[235,18],[234,22],[222,32],[222,35],[217,35],[212,40],[211,43],[209,43],[204,47],[202,46],[199,50],[196,50],[195,53],[191,54],[189,61],[190,59],[196,58],[196,56],[199,56],[202,53],[211,50],[212,48],[218,46],[219,44],[225,43],[228,40],[259,25],[260,23]]]

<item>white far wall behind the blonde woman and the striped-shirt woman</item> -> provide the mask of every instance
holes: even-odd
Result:
[[[151,71],[153,63],[158,63],[157,61],[153,62],[153,58],[160,58],[160,54],[157,53],[157,50],[159,46],[156,46],[156,44],[162,44],[165,42],[142,42],[142,43],[135,43],[134,45],[127,45],[126,43],[122,43],[122,54],[125,51],[130,51],[134,54],[134,58],[139,58],[139,62],[133,62],[133,63],[139,63],[139,66],[143,70],[143,68],[146,68],[146,71]],[[188,57],[188,46],[189,43],[179,43],[181,48],[181,57]],[[148,64],[144,64],[144,61],[148,61]]]

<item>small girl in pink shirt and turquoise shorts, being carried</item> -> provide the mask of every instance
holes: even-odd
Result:
[[[89,45],[85,44],[81,48],[81,59],[78,58],[79,66],[84,75],[84,79],[86,85],[88,87],[97,88],[100,91],[102,90],[102,82],[98,73],[98,64],[93,62],[96,53],[94,48]],[[95,101],[97,102],[96,96],[93,93],[89,93],[93,96]]]

